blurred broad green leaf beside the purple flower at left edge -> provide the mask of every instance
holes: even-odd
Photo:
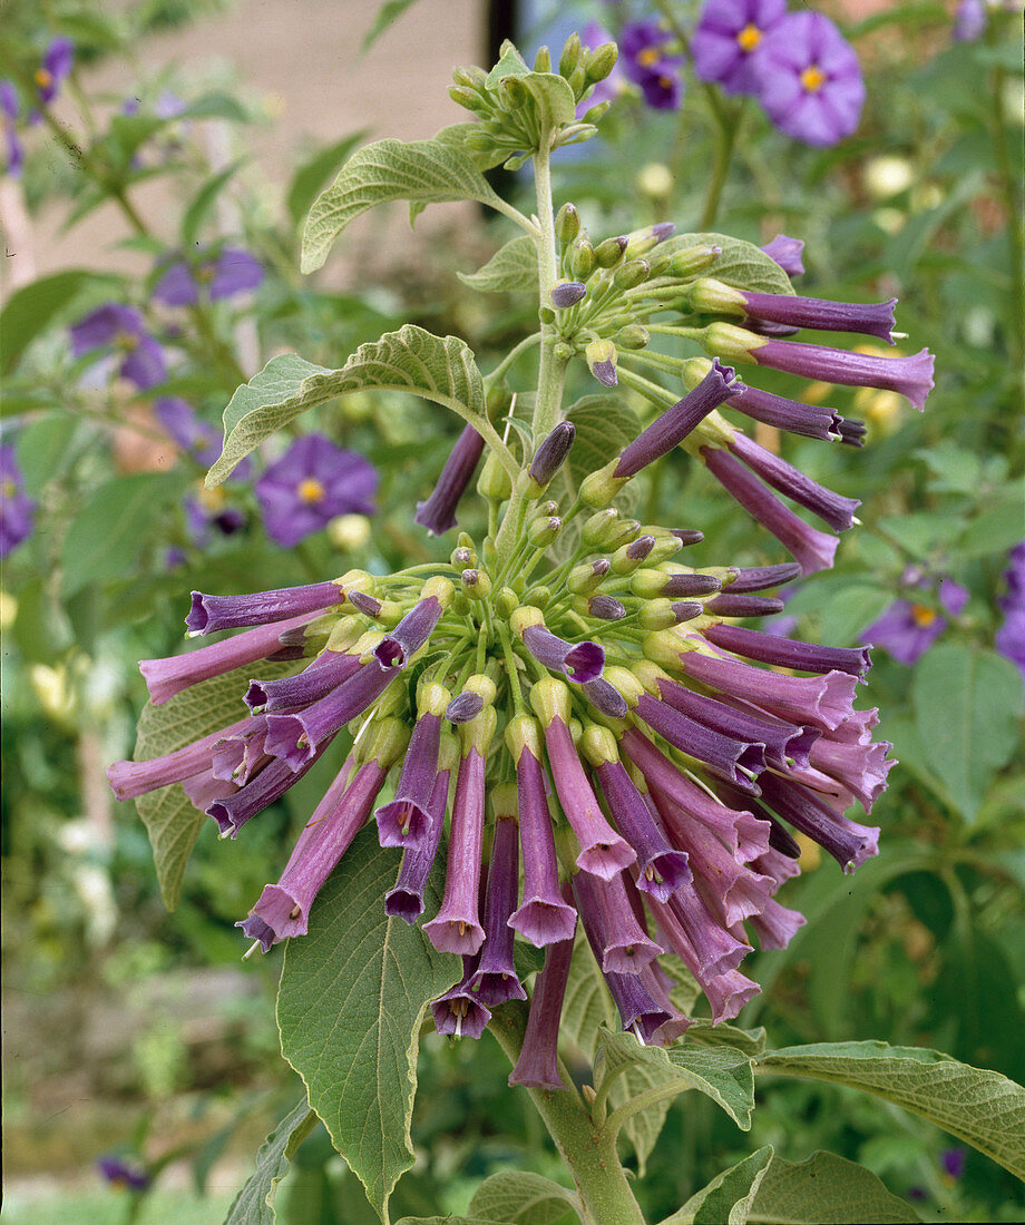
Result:
[[[88,499],[61,550],[61,590],[74,595],[87,583],[128,575],[139,561],[161,508],[181,492],[178,473],[115,477]]]

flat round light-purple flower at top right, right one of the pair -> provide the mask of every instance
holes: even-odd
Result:
[[[765,36],[754,65],[758,100],[787,136],[828,146],[850,136],[864,104],[851,44],[819,12],[793,12]]]

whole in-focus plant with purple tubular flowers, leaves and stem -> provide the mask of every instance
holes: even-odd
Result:
[[[1020,1093],[929,1051],[766,1051],[764,1033],[728,1024],[759,991],[745,954],[785,947],[804,922],[776,899],[802,843],[845,873],[874,856],[879,831],[863,822],[893,764],[890,746],[873,741],[877,712],[856,703],[864,648],[754,627],[782,610],[786,584],[831,566],[858,506],[781,458],[777,431],[847,447],[864,434],[820,403],[763,388],[761,368],[894,391],[922,409],[933,359],[803,338],[821,330],[891,344],[895,303],[797,295],[796,239],[756,247],[678,233],[669,218],[592,234],[571,203],[557,208],[551,157],[596,134],[608,103],[589,99],[615,61],[614,44],[576,36],[557,64],[546,50],[532,67],[506,44],[490,72],[455,74],[451,94],[470,121],[430,141],[367,146],[309,216],[305,271],[376,203],[407,200],[414,214],[473,200],[504,214],[522,233],[468,279],[537,295],[537,330],[505,359],[482,374],[460,339],[407,325],[340,369],[275,358],[224,414],[211,486],[335,397],[434,401],[465,425],[411,519],[455,533],[476,478],[487,533],[460,532],[448,562],[394,573],[194,592],[190,636],[239,632],[141,664],[151,725],[173,726],[180,703],[213,692],[205,686],[223,695],[227,681],[235,697],[201,739],[113,766],[120,799],[180,785],[199,822],[205,813],[222,837],[245,838],[250,820],[338,752],[336,740],[348,746],[280,877],[238,921],[250,953],[288,941],[278,1023],[308,1096],[269,1139],[234,1220],[270,1219],[260,1213],[318,1116],[387,1219],[412,1164],[428,1018],[455,1039],[490,1029],[574,1185],[503,1176],[504,1207],[486,1182],[473,1220],[519,1220],[514,1210],[539,1199],[554,1204],[546,1219],[642,1221],[620,1132],[685,1090],[747,1128],[755,1069],[859,1085],[948,1127],[970,1072],[991,1078],[971,1082],[980,1101]],[[484,178],[527,164],[532,216]],[[510,371],[535,363],[536,390],[512,394]],[[566,386],[586,382],[568,403]],[[665,523],[634,517],[639,489],[680,448],[790,560],[694,567],[701,524],[687,506]],[[295,469],[289,505],[322,496],[313,470]],[[287,522],[278,535],[288,539]],[[185,853],[199,828],[188,821]],[[590,1057],[590,1078],[574,1079],[560,1039]],[[951,1129],[1003,1160],[972,1118]],[[862,1214],[831,1219],[884,1209],[916,1219],[869,1171],[831,1160],[828,1172],[792,1166],[766,1145],[695,1188],[672,1220],[747,1220],[753,1204],[759,1219],[780,1219],[781,1198],[813,1183],[817,1193],[829,1183],[817,1210],[839,1212],[834,1194]]]

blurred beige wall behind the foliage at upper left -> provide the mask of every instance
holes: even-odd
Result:
[[[226,64],[234,65],[242,89],[262,94],[277,115],[272,125],[245,130],[245,149],[270,190],[281,195],[303,136],[327,143],[369,127],[370,138],[418,140],[466,118],[446,89],[454,65],[482,61],[484,0],[417,0],[360,59],[360,44],[379,7],[379,0],[238,0],[221,17],[148,38],[137,49],[139,62],[147,74],[179,65],[196,82],[202,82],[205,66],[223,74]],[[101,65],[85,80],[90,93],[129,98],[136,92],[135,78],[132,67],[118,60]],[[64,119],[74,129],[74,107],[67,99],[63,105]],[[31,138],[38,138],[37,134]],[[251,181],[251,170],[249,175]],[[173,239],[181,205],[169,185],[142,183],[131,196],[147,223]],[[148,258],[115,249],[131,233],[115,207],[103,206],[61,234],[63,205],[49,206],[26,230],[11,216],[10,200],[4,201],[7,289],[67,266],[148,267]],[[432,206],[414,234],[405,221],[405,207],[392,207],[386,218],[356,222],[340,247],[335,279],[345,279],[346,249],[354,254],[375,241],[387,246],[392,260],[402,258],[432,232],[462,216],[470,216],[470,206]]]

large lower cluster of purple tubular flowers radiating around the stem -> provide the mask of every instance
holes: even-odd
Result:
[[[673,445],[677,417],[733,391],[716,363],[623,451],[620,475]],[[577,919],[641,1041],[687,1029],[672,998],[680,963],[714,1020],[732,1018],[758,991],[739,969],[750,937],[780,948],[803,922],[775,897],[798,871],[793,832],[857,867],[878,831],[845,812],[871,809],[889,764],[889,746],[871,741],[875,712],[853,706],[864,649],[736,624],[779,611],[770,593],[798,565],[694,568],[679,556],[699,532],[579,501],[565,512],[579,517],[575,545],[559,565],[546,559],[565,523],[544,495],[573,442],[564,421],[525,466],[531,510],[504,565],[492,540],[478,561],[463,533],[448,565],[194,593],[192,635],[242,632],[143,662],[152,701],[244,668],[255,677],[240,687],[248,712],[108,772],[121,799],[180,783],[234,838],[348,729],[348,756],[284,872],[239,926],[265,952],[304,935],[318,891],[367,823],[402,851],[381,899],[389,915],[419,921],[441,856],[444,898],[423,931],[462,957],[463,974],[434,1002],[435,1025],[478,1036],[492,1009],[526,996],[516,938],[544,948],[511,1080],[549,1088],[563,1084],[557,1038]],[[439,483],[439,521],[467,468]],[[264,660],[289,659],[294,675],[260,679]]]

